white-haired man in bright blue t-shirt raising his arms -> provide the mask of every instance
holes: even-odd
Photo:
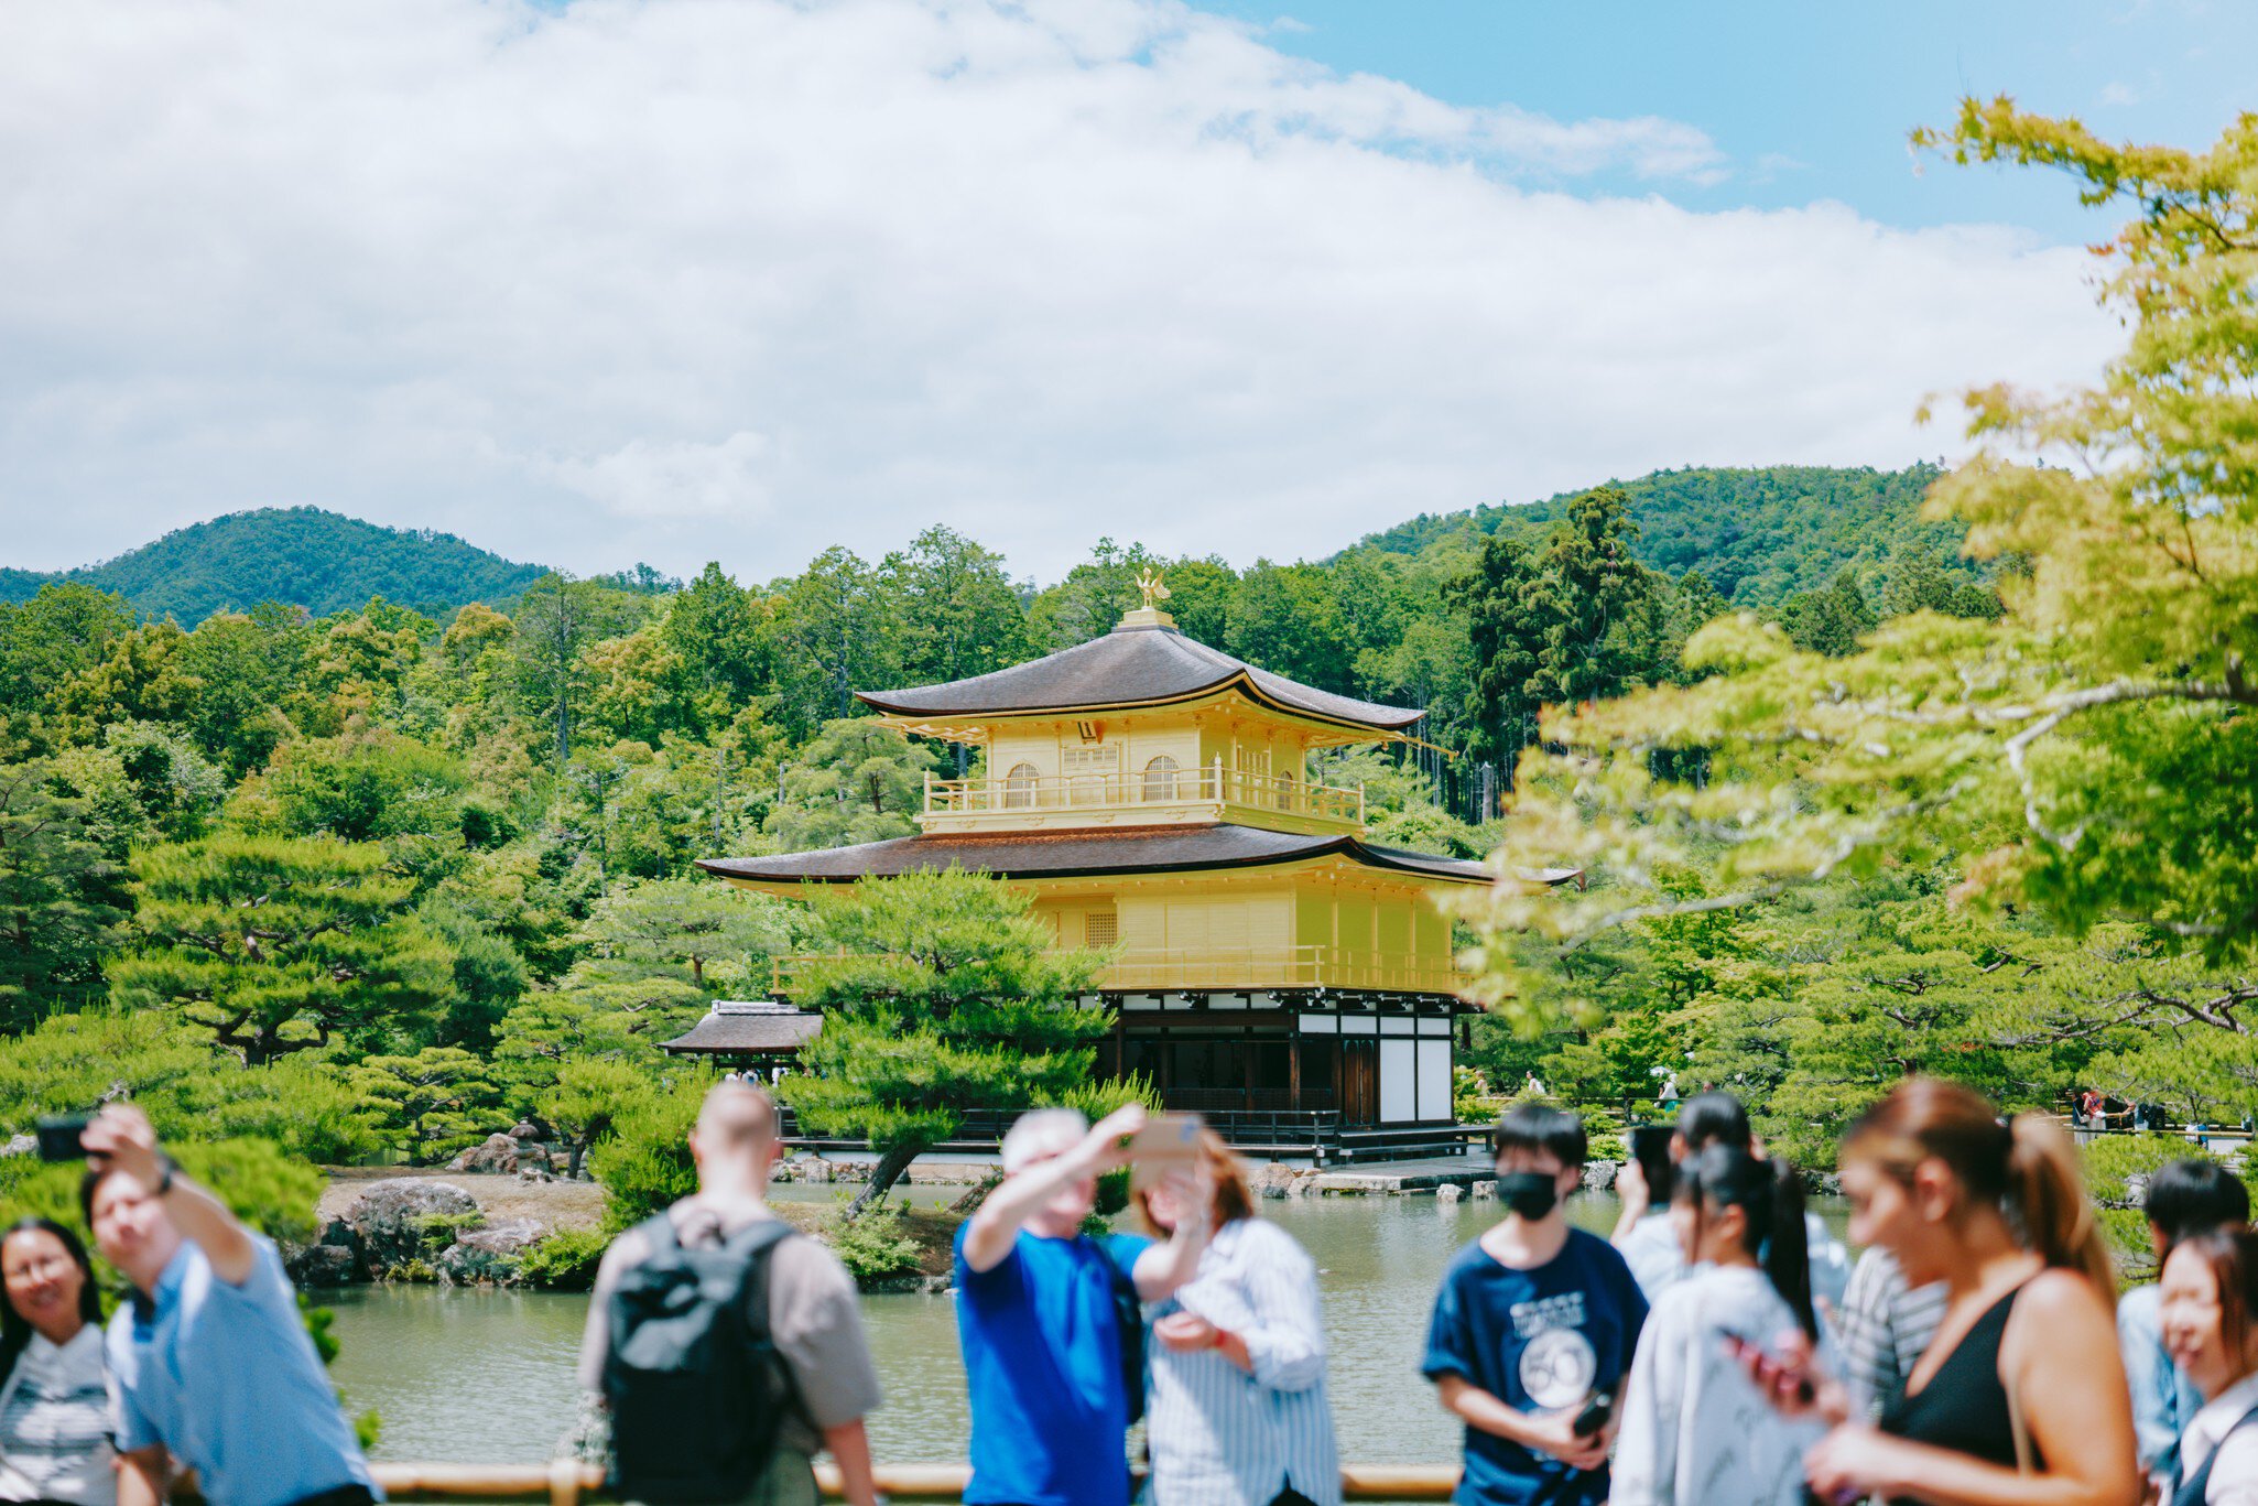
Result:
[[[1003,1138],[1005,1181],[957,1231],[973,1411],[966,1506],[1129,1506],[1122,1343],[1143,1357],[1136,1303],[1194,1276],[1213,1203],[1210,1188],[1183,1179],[1176,1201],[1199,1217],[1176,1224],[1167,1244],[1082,1233],[1097,1176],[1124,1165],[1124,1140],[1143,1124],[1138,1104],[1095,1129],[1073,1109],[1021,1115]]]

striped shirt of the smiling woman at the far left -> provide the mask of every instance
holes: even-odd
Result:
[[[117,1499],[117,1398],[102,1364],[102,1325],[63,1346],[32,1334],[0,1386],[0,1501]]]

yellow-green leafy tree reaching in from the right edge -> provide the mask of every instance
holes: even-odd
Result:
[[[1691,853],[1716,853],[1703,905],[1897,853],[1958,863],[1964,896],[2071,935],[2125,921],[2215,966],[2258,944],[2258,332],[2242,298],[2258,117],[2188,154],[1971,99],[1919,140],[2064,167],[2093,203],[2134,210],[2100,248],[2127,350],[2068,397],[1967,393],[1978,456],[1931,490],[1928,517],[1964,526],[1971,555],[2016,562],[2005,614],[1917,612],[1840,659],[1716,621],[1687,650],[1700,684],[1558,716],[1563,756],[1538,765],[1502,860],[1619,883],[1499,892],[1479,905],[1488,935],[1576,946],[1675,905],[1642,874]],[[1709,750],[1707,783],[1653,777],[1671,743]],[[1488,984],[1502,1000],[1508,951]]]

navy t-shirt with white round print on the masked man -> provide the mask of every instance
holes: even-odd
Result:
[[[1646,1298],[1614,1246],[1581,1228],[1544,1264],[1515,1271],[1479,1242],[1443,1271],[1427,1328],[1427,1380],[1463,1375],[1520,1411],[1576,1407],[1594,1391],[1621,1393],[1646,1323]],[[1608,1470],[1578,1472],[1520,1443],[1465,1429],[1461,1506],[1596,1506]]]

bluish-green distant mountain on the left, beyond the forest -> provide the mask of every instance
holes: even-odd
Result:
[[[0,601],[29,601],[50,580],[117,592],[151,616],[194,628],[212,612],[262,601],[314,616],[384,596],[420,612],[515,596],[546,573],[474,549],[452,533],[382,528],[321,508],[260,508],[167,533],[154,544],[81,569],[0,569]]]

